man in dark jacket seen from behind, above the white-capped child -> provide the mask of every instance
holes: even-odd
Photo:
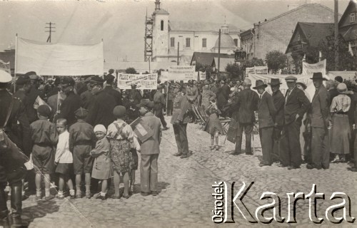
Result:
[[[116,101],[113,96],[107,94],[103,90],[104,79],[99,76],[91,78],[91,93],[94,95],[93,103],[89,106],[89,114],[86,117],[86,123],[95,125],[104,125],[108,128],[109,124],[113,123],[113,110],[116,106]]]

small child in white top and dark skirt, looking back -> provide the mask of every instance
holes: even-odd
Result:
[[[73,174],[73,157],[69,151],[69,132],[67,131],[67,120],[58,119],[56,121],[57,132],[59,133],[59,143],[57,143],[54,162],[56,173],[59,174],[59,194],[58,199],[64,199],[64,183],[69,187],[69,195],[74,199],[74,187],[70,176]]]

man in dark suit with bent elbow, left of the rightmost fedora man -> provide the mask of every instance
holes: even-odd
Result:
[[[288,170],[298,169],[301,165],[301,147],[299,141],[303,114],[310,108],[310,101],[302,90],[296,88],[297,78],[285,78],[288,90],[285,95],[284,126],[281,135],[281,167]]]

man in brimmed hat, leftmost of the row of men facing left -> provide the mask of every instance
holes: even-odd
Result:
[[[257,80],[256,87],[253,87],[253,89],[257,90],[259,93],[259,137],[261,139],[261,150],[263,152],[263,160],[261,161],[260,166],[271,165],[274,120],[276,116],[276,108],[274,107],[273,98],[269,93],[266,93],[266,87],[267,85],[261,80]]]

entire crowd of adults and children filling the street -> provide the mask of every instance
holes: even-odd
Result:
[[[36,192],[37,200],[67,196],[105,200],[112,181],[115,192],[111,197],[129,198],[139,167],[138,152],[141,195],[158,195],[161,134],[169,129],[164,115],[171,116],[177,145],[174,156],[182,159],[191,153],[187,125],[202,119],[211,135],[211,150],[219,150],[219,135],[226,133],[220,121],[223,116],[231,118],[228,134],[233,134],[236,143],[232,155],[242,152],[243,132],[244,152],[253,155],[251,136],[258,128],[263,153],[260,166],[278,162],[292,170],[306,162],[308,169],[328,169],[330,162],[354,161],[349,170],[357,171],[353,160],[357,88],[339,76],[326,81],[321,73],[314,73],[316,93],[309,98],[306,84],[295,76],[285,78],[288,90],[283,94],[278,78],[268,85],[258,80],[253,90],[249,78],[158,81],[157,90],[138,90],[135,84],[131,90],[121,90],[116,88],[113,70],[103,77],[76,81],[71,77],[44,81],[31,71],[14,83],[9,73],[0,73],[0,226],[22,224],[24,182]],[[272,94],[267,93],[268,86]],[[203,114],[196,115],[194,107]],[[149,136],[134,132],[138,123]],[[54,184],[56,196],[50,191]],[[11,213],[6,207],[6,185]]]

